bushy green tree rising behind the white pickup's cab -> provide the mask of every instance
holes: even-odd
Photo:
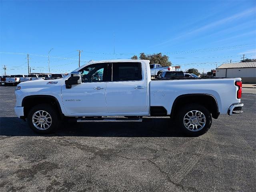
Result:
[[[131,59],[138,59],[136,55],[132,56]],[[162,53],[157,54],[145,54],[140,53],[140,59],[150,60],[150,64],[157,63],[161,66],[171,66],[172,62],[169,61],[169,57],[167,55],[162,55]]]

